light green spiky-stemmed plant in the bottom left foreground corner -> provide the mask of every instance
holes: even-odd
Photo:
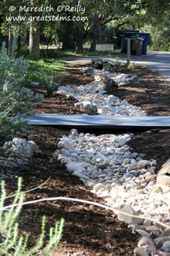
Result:
[[[22,210],[24,202],[24,192],[21,191],[22,179],[18,180],[18,189],[12,205],[9,210],[5,210],[4,203],[6,201],[6,189],[4,181],[1,182],[1,198],[0,198],[0,255],[8,256],[32,256],[32,255],[49,255],[52,249],[58,246],[63,232],[63,218],[57,221],[53,228],[50,228],[49,241],[44,244],[45,240],[45,216],[42,218],[42,231],[35,245],[31,248],[27,247],[29,235],[21,236],[19,234],[19,213]]]

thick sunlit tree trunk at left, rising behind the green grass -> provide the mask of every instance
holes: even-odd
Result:
[[[30,25],[30,58],[40,59],[40,23],[35,22]]]

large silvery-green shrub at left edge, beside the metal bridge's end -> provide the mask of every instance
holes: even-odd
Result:
[[[23,118],[32,111],[32,101],[42,100],[42,95],[22,87],[29,64],[23,56],[17,58],[15,50],[16,39],[11,56],[7,54],[5,43],[0,50],[0,137],[3,139],[17,130],[27,130]]]

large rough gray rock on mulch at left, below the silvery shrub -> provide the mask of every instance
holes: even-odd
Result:
[[[12,141],[5,142],[3,148],[6,151],[6,155],[19,158],[24,161],[30,160],[34,153],[40,152],[40,149],[34,141],[27,141],[17,137]]]

